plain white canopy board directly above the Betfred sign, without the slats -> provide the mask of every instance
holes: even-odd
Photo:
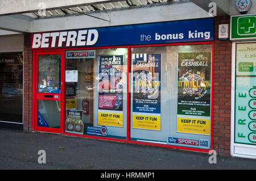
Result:
[[[98,12],[94,13],[93,16],[97,18],[86,15],[39,18],[30,23],[30,32],[109,27],[212,17],[208,12],[192,2],[177,3],[167,6],[152,6],[143,9],[135,8],[122,11],[110,11],[106,13]]]

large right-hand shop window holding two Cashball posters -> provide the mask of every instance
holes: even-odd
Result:
[[[210,148],[212,45],[131,49],[131,140]]]

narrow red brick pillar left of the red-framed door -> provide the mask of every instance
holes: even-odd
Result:
[[[30,34],[24,34],[23,58],[23,130],[32,131],[32,51],[30,49]]]

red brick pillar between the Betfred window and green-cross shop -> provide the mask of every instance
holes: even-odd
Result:
[[[219,24],[230,24],[230,16],[214,19],[213,149],[229,156],[232,42],[218,40]]]

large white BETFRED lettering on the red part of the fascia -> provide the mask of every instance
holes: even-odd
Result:
[[[59,39],[57,39],[59,37]],[[51,41],[50,41],[51,38]],[[57,42],[56,42],[57,41]],[[35,33],[32,48],[79,47],[94,45],[98,41],[97,30]]]

